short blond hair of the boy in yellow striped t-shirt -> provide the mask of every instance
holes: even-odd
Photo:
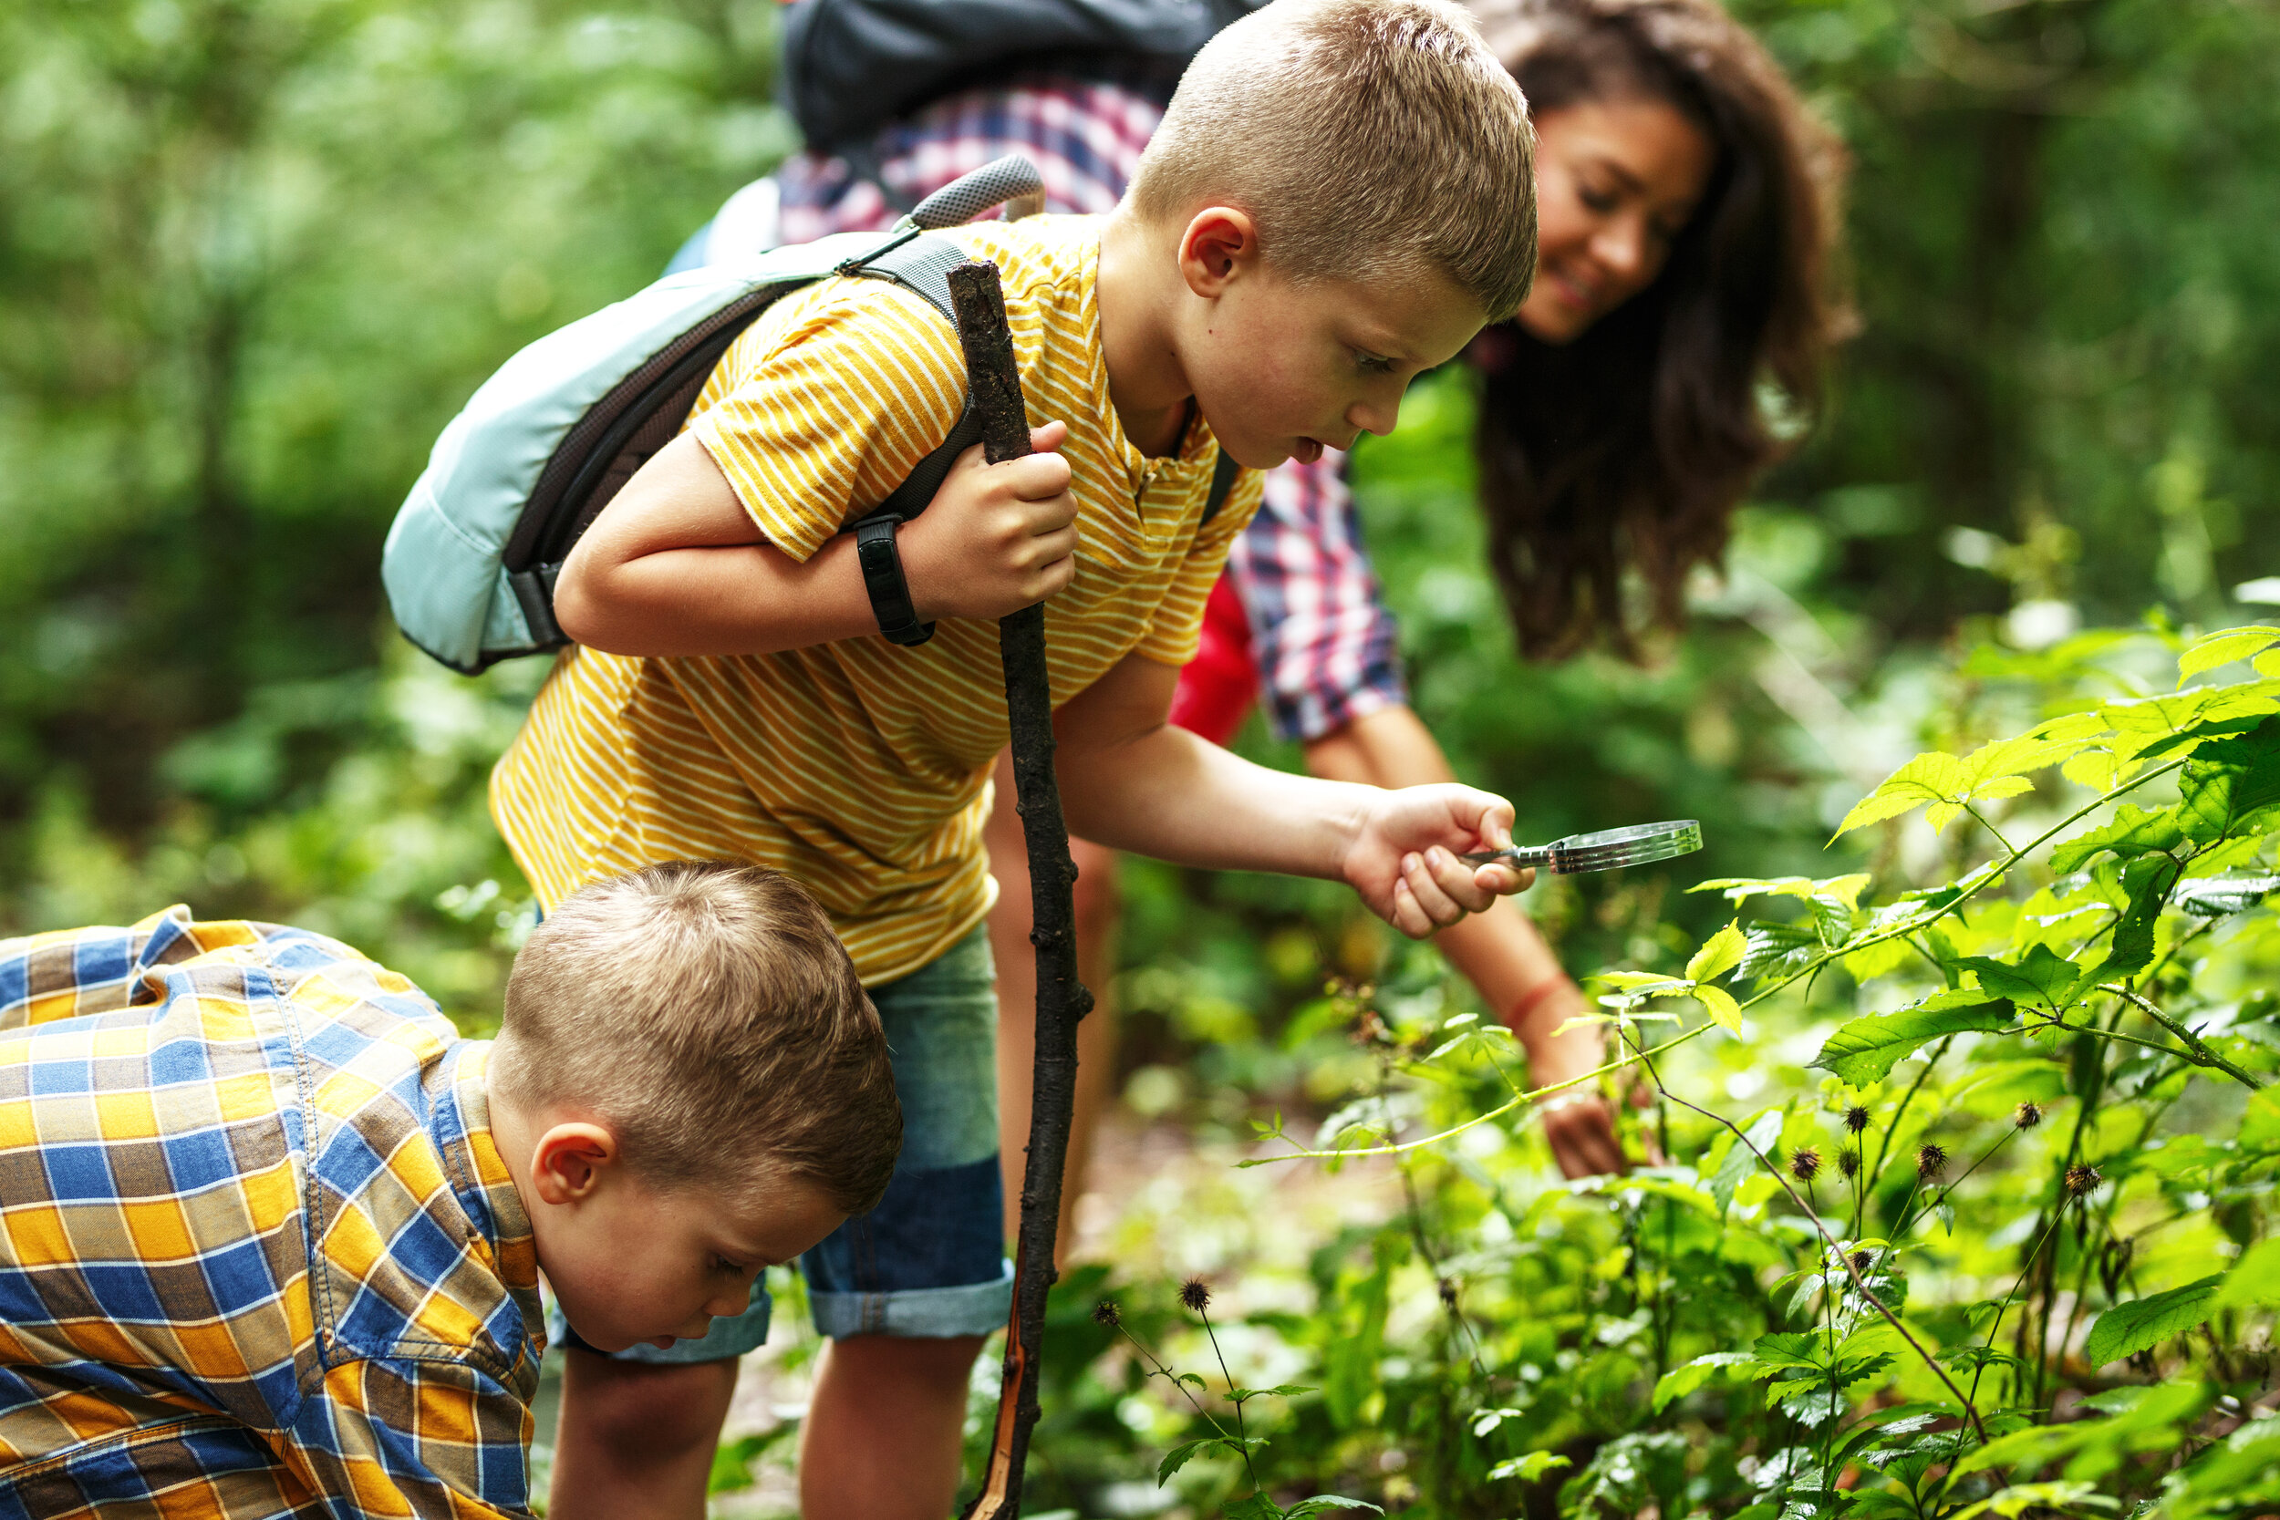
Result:
[[[1448,0],[1275,0],[1211,39],[1156,128],[1133,207],[1222,201],[1293,280],[1439,273],[1503,321],[1537,267],[1534,130]]]

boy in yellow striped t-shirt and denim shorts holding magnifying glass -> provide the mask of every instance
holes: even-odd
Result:
[[[492,782],[540,902],[659,859],[775,866],[832,916],[896,1053],[896,1180],[803,1260],[832,1338],[807,1515],[939,1520],[967,1372],[1005,1317],[980,839],[1001,613],[1047,604],[1072,832],[1345,880],[1407,934],[1525,886],[1459,859],[1509,843],[1498,798],[1261,770],[1165,711],[1256,472],[1389,433],[1416,374],[1518,308],[1530,146],[1455,5],[1275,0],[1197,57],[1113,214],[951,232],[999,264],[1047,422],[1037,453],[971,451],[898,529],[903,599],[873,599],[841,529],[951,433],[964,365],[880,280],[768,308],[563,567],[579,647]],[[1206,524],[1222,451],[1245,474]],[[618,1358],[570,1338],[549,1513],[700,1515],[766,1315],[757,1292],[700,1342]]]

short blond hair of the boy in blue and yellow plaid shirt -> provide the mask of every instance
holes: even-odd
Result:
[[[570,1103],[663,1185],[798,1178],[855,1215],[903,1149],[887,1032],[816,900],[762,866],[595,882],[506,982],[504,1094]]]

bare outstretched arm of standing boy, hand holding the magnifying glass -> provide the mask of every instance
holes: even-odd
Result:
[[[1468,866],[1512,843],[1512,804],[1473,786],[1382,791],[1254,766],[1165,725],[1179,670],[1131,654],[1053,720],[1069,832],[1183,866],[1347,882],[1411,939],[1523,891],[1532,871]]]

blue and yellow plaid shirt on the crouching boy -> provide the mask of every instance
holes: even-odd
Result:
[[[486,1055],[306,930],[0,941],[0,1520],[522,1513]]]

